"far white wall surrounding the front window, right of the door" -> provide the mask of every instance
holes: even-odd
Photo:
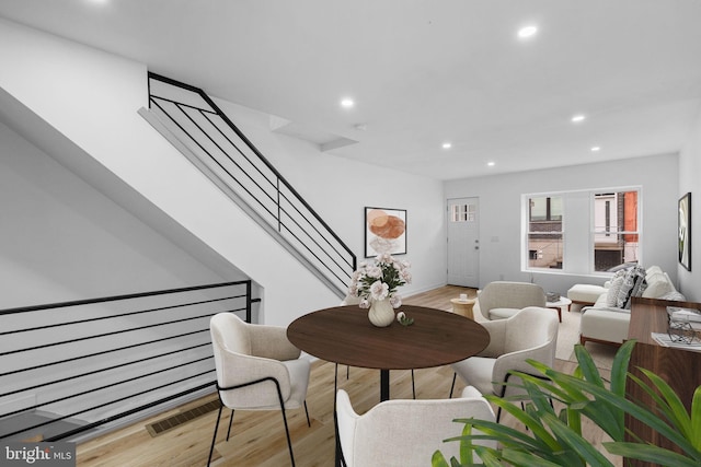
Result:
[[[658,265],[676,280],[676,154],[521,172],[445,184],[446,198],[480,198],[480,284],[494,280],[530,281],[521,271],[522,194],[642,186],[642,262]],[[564,294],[574,283],[602,283],[600,277],[533,273],[535,282]]]

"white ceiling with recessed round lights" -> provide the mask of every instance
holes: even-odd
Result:
[[[0,15],[319,144],[357,141],[330,154],[438,179],[679,151],[701,108],[699,0],[101,3],[0,0]],[[519,42],[530,23],[539,34]]]

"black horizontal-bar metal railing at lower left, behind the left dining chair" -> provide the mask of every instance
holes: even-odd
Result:
[[[0,440],[73,441],[215,388],[209,318],[251,281],[0,310]]]

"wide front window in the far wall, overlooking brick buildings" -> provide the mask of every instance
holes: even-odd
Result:
[[[637,262],[640,194],[617,188],[524,195],[524,269],[587,275]]]

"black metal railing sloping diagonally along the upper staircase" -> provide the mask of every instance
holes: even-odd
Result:
[[[204,91],[149,73],[149,108],[191,162],[345,295],[356,256]]]

